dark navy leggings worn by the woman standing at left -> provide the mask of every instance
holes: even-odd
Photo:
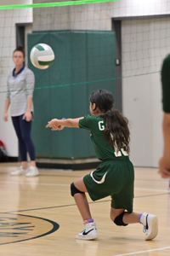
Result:
[[[19,116],[13,116],[13,125],[16,135],[19,139],[19,148],[21,161],[26,161],[26,153],[28,152],[31,158],[31,161],[35,160],[35,148],[34,144],[31,141],[31,121],[27,122],[22,119],[24,114]]]

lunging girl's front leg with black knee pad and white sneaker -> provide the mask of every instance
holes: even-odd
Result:
[[[98,238],[98,233],[94,219],[90,213],[85,192],[88,192],[88,190],[83,182],[83,177],[77,179],[77,181],[71,184],[71,195],[77,203],[78,210],[82,215],[83,224],[85,226],[85,230],[82,230],[82,232],[77,234],[76,237],[81,240],[94,240]]]

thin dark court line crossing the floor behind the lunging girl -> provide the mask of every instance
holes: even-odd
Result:
[[[134,199],[135,198],[141,198],[141,197],[157,196],[157,195],[170,195],[170,192],[162,193],[162,194],[156,194],[156,195],[139,195],[139,196],[134,196]],[[103,202],[106,202],[106,201],[111,201],[111,200],[92,201],[92,202],[88,202],[88,204],[97,204],[97,203],[103,203]],[[64,205],[64,206],[58,206],[58,207],[42,207],[42,208],[34,208],[34,209],[26,209],[26,210],[10,211],[10,212],[0,212],[0,213],[29,212],[29,211],[47,210],[47,209],[62,208],[62,207],[75,207],[75,206],[77,206],[77,204]]]

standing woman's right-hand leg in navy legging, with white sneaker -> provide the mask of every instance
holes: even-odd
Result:
[[[35,155],[35,148],[34,144],[31,141],[31,121],[27,122],[26,120],[22,119],[22,115],[20,116],[20,131],[22,138],[26,144],[27,152],[30,155],[31,159],[31,166],[29,168],[29,172],[26,173],[26,177],[37,176],[39,174],[36,166],[36,155]]]

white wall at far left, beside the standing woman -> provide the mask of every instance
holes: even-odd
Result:
[[[1,5],[28,4],[32,0],[1,0]],[[5,143],[8,156],[18,156],[18,141],[10,116],[3,121],[3,110],[7,90],[6,80],[14,68],[12,54],[16,47],[15,23],[32,22],[32,9],[0,9],[0,140]],[[10,109],[9,109],[10,111]],[[8,111],[8,113],[9,113]]]

